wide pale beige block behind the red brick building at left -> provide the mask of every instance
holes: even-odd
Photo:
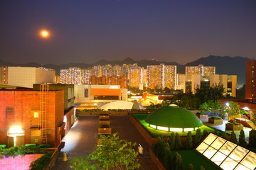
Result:
[[[1,84],[33,88],[33,84],[55,83],[55,70],[43,67],[0,67]]]

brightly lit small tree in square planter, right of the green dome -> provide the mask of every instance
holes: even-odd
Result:
[[[230,116],[229,123],[226,123],[227,130],[242,130],[243,125],[235,122],[235,118],[238,116],[247,114],[248,112],[245,110],[241,110],[238,103],[231,101],[228,106],[225,107],[224,113],[228,113]]]

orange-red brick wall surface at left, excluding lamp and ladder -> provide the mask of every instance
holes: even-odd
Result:
[[[0,144],[11,147],[11,137],[7,135],[8,130],[13,126],[19,126],[23,132],[17,135],[16,145],[20,147],[26,143],[41,143],[40,129],[36,124],[35,111],[40,117],[40,95],[41,91],[0,91]],[[46,120],[47,143],[57,147],[60,144],[60,128],[64,116],[64,91],[48,91],[48,114]]]

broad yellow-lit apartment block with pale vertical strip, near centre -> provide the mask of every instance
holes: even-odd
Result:
[[[175,89],[176,66],[174,65],[148,65],[148,88],[149,89]]]

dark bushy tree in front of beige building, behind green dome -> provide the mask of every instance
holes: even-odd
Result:
[[[206,84],[202,84],[200,87],[196,88],[196,96],[200,98],[201,103],[207,101],[217,101],[219,98],[223,98],[223,94],[225,93],[225,89],[223,85],[214,84],[213,86],[207,86]]]

